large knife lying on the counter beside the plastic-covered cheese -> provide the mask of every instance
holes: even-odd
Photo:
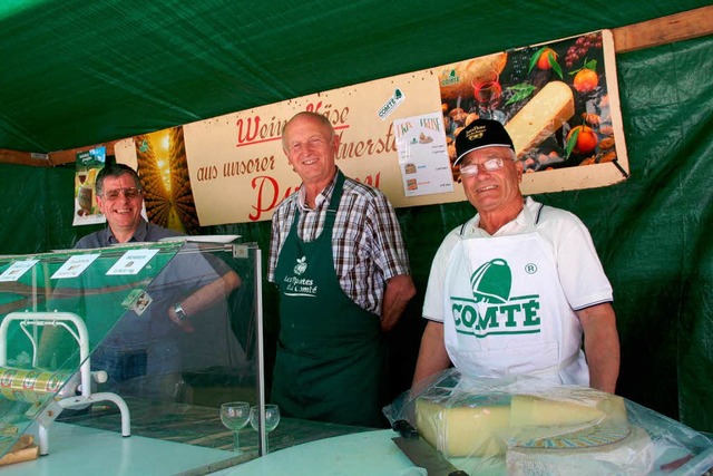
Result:
[[[399,435],[391,438],[406,456],[418,467],[424,468],[428,476],[468,476],[468,474],[453,466],[407,420],[393,422],[393,430]]]

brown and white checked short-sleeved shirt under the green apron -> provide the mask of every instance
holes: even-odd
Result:
[[[303,187],[280,204],[272,218],[268,281],[275,282],[277,258],[297,211],[299,236],[305,242],[320,236],[335,182],[336,175],[316,197],[314,210],[306,206]],[[361,308],[381,315],[385,281],[410,273],[401,227],[381,191],[345,177],[332,233],[332,256],[346,295]]]

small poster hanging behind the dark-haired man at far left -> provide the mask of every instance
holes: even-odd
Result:
[[[75,174],[75,218],[74,226],[106,223],[96,201],[95,178],[107,159],[106,147],[77,154],[77,172]]]

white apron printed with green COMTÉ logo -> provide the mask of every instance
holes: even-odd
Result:
[[[589,385],[582,326],[537,232],[461,240],[443,299],[446,349],[461,372]]]

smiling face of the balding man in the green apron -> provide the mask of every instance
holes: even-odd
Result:
[[[329,123],[311,114],[295,116],[283,132],[287,161],[309,188],[321,191],[332,179],[338,147],[339,137]]]

